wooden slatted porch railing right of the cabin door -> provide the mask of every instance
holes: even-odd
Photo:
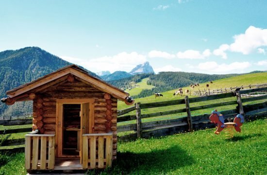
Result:
[[[98,140],[98,149],[97,149]],[[88,143],[89,142],[89,143]],[[89,151],[88,151],[89,150]],[[96,157],[98,155],[98,157]],[[83,134],[83,169],[111,167],[112,133]]]

